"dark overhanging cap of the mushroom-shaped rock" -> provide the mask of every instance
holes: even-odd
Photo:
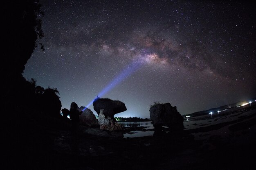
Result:
[[[109,98],[96,98],[93,102],[93,109],[100,113],[101,109],[104,109],[104,115],[114,120],[114,115],[123,111],[126,111],[126,106],[119,100],[111,100]]]

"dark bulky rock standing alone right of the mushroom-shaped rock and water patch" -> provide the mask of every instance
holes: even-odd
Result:
[[[152,124],[157,128],[167,126],[171,130],[184,129],[183,117],[177,111],[176,106],[172,107],[170,103],[155,104],[149,109]]]

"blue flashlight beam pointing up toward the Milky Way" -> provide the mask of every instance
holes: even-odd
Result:
[[[115,86],[117,86],[119,83],[121,83],[121,81],[123,81],[125,78],[127,78],[128,76],[130,76],[132,73],[134,73],[135,71],[137,71],[140,66],[142,65],[141,62],[133,62],[130,65],[128,65],[128,67],[123,70],[120,74],[118,74],[110,83],[108,83],[108,85],[98,94],[98,97],[102,97],[104,94],[106,94],[107,92],[109,92],[111,89],[113,89]],[[88,108],[90,105],[92,105],[93,101],[95,99],[93,99],[84,109],[83,111]]]

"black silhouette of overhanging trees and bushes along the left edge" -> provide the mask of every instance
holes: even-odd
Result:
[[[4,98],[4,114],[7,118],[20,119],[17,113],[29,114],[31,111],[43,112],[58,117],[61,101],[57,96],[58,90],[36,86],[36,80],[26,81],[22,76],[27,60],[31,57],[36,46],[43,44],[38,40],[43,38],[39,0],[13,0],[4,2],[3,9],[7,22],[4,24],[4,50],[2,56],[1,90]],[[50,109],[51,108],[51,109]],[[12,114],[13,113],[13,114]],[[17,116],[17,118],[16,118]]]

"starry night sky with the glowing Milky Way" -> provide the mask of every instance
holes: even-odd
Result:
[[[256,97],[255,3],[40,3],[45,51],[34,50],[23,76],[57,88],[62,108],[87,106],[109,84],[99,97],[126,104],[117,117],[149,118],[154,102],[183,115]]]

